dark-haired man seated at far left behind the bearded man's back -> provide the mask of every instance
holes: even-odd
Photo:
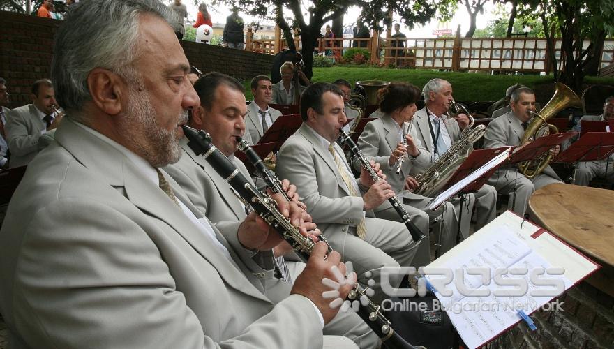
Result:
[[[27,165],[38,154],[40,136],[57,128],[62,119],[54,112],[57,102],[51,80],[34,82],[31,98],[31,104],[10,110],[6,117],[4,131],[11,168]]]

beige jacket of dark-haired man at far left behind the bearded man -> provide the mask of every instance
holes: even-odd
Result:
[[[27,165],[38,154],[38,138],[47,126],[38,117],[38,110],[33,104],[10,110],[6,114],[6,142],[10,149],[11,168]]]

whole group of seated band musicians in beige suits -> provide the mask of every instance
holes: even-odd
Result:
[[[0,78],[0,165],[27,165],[0,230],[0,313],[11,348],[378,348],[359,315],[331,306],[326,292],[344,299],[358,282],[379,304],[388,296],[384,267],[428,265],[470,225],[495,218],[497,192],[524,214],[534,190],[560,181],[549,169],[527,179],[504,168],[476,193],[429,209],[431,198],[412,193],[414,176],[470,127],[462,112],[447,117],[449,82],[379,91],[381,116],[358,140],[374,179],[337,142],[355,112],[349,82],[297,91],[286,83],[294,66],[283,64],[278,84],[253,78],[246,103],[233,77],[190,66],[175,19],[156,0],[77,4],[55,34],[51,79],[33,84],[31,104],[8,110],[10,86]],[[314,242],[306,262],[183,131],[206,130],[237,173],[262,188],[235,156],[239,139],[257,143],[281,115],[271,104],[298,97],[302,124],[276,157],[285,193],[271,199]],[[519,144],[534,92],[515,89],[509,107],[488,125],[485,147]],[[597,119],[613,117],[608,98]],[[609,171],[612,181],[611,167],[587,165],[586,178]],[[395,197],[425,233],[421,241],[391,207]],[[336,288],[323,281],[339,274]],[[388,282],[405,283],[402,275]]]

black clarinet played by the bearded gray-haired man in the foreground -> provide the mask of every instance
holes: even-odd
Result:
[[[290,220],[280,213],[273,199],[250,184],[230,160],[211,143],[211,137],[208,133],[196,131],[188,126],[182,126],[182,128],[189,140],[188,147],[195,154],[204,156],[216,172],[232,186],[241,200],[250,205],[265,222],[269,223],[271,228],[276,230],[294,248],[297,255],[306,262],[315,246],[313,241],[301,235],[298,228],[294,227]],[[354,288],[347,295],[347,298],[352,301],[359,300],[357,314],[382,339],[382,343],[387,348],[414,349],[414,346],[407,343],[394,331],[390,321],[382,314],[380,306],[376,306],[366,295],[367,290],[355,283]]]

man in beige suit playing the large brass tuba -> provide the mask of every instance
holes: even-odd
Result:
[[[510,98],[511,111],[497,117],[488,124],[484,134],[484,148],[519,146],[527,125],[535,111],[535,94],[528,87],[519,87]],[[551,154],[559,153],[559,146],[551,149]],[[508,194],[508,207],[523,216],[534,191],[553,183],[562,183],[554,170],[548,165],[541,174],[528,179],[518,172],[516,165],[504,165],[495,171],[488,184],[497,188],[499,193]]]

